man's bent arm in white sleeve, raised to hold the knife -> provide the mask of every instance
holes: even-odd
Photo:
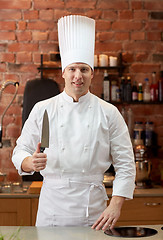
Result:
[[[43,111],[37,103],[30,112],[23,126],[21,135],[17,139],[16,147],[13,150],[12,162],[21,176],[32,175],[34,171],[40,171],[40,169],[35,166],[36,162],[38,162],[36,158],[40,156],[41,158],[43,156],[43,158],[45,158],[45,155],[41,155],[40,153],[40,145],[38,146],[41,138],[42,115]],[[37,154],[39,154],[39,156]]]

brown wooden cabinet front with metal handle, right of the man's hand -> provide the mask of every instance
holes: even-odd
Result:
[[[126,200],[117,225],[144,225],[163,223],[163,198],[138,197]]]

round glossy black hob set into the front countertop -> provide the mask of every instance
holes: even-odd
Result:
[[[157,234],[157,230],[144,227],[115,227],[112,230],[106,230],[104,233],[114,237],[138,238],[153,236]]]

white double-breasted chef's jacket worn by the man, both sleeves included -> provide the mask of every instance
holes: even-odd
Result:
[[[12,161],[19,174],[29,174],[22,171],[21,164],[35,152],[41,141],[45,109],[49,116],[49,148],[45,149],[46,168],[40,173],[46,184],[53,179],[55,185],[61,176],[65,176],[65,181],[71,178],[71,184],[73,179],[75,183],[78,179],[79,183],[90,183],[91,176],[91,182],[102,181],[103,174],[113,164],[116,175],[112,195],[132,198],[135,163],[127,125],[115,106],[90,92],[81,96],[78,102],[63,91],[36,103],[13,151]],[[70,183],[66,182],[65,186],[69,188]]]

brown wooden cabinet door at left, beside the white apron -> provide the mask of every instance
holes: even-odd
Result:
[[[30,226],[30,199],[0,199],[1,226]]]

